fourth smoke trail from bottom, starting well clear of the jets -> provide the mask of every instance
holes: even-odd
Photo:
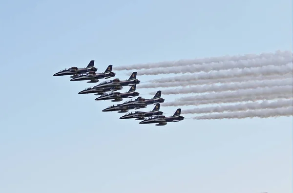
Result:
[[[220,93],[202,94],[196,96],[181,97],[178,101],[200,101],[200,100],[213,100],[213,99],[228,99],[228,98],[244,98],[248,96],[257,95],[271,95],[273,93],[293,93],[292,86],[272,86],[257,89],[239,89],[237,91],[227,91]]]

